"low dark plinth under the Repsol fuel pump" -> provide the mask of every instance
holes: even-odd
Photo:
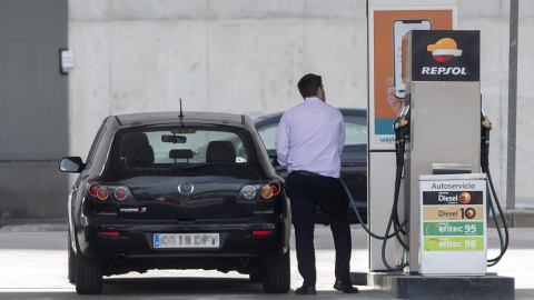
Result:
[[[419,276],[370,272],[367,283],[397,299],[514,299],[515,280],[487,273],[483,277]]]

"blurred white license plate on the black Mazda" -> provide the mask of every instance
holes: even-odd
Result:
[[[219,248],[219,233],[155,233],[154,248]]]

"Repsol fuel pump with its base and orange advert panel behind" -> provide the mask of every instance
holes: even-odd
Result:
[[[367,280],[402,299],[511,299],[513,279],[486,276],[506,251],[507,229],[488,168],[491,122],[481,119],[481,33],[452,30],[456,0],[400,2],[368,0],[367,220],[385,233],[363,224],[373,237]],[[404,90],[399,116],[383,98],[392,74]],[[492,213],[502,247],[487,259]]]

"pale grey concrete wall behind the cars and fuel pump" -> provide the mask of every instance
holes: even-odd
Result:
[[[534,206],[534,3],[520,1],[517,207]],[[506,194],[510,1],[458,0],[458,29],[482,31],[482,93],[491,170]],[[367,106],[365,0],[70,0],[70,152],[86,157],[109,114],[179,110],[255,118],[301,101],[307,73],[327,102]],[[386,88],[386,87],[384,87]]]

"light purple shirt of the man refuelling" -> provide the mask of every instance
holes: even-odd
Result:
[[[287,171],[308,171],[339,178],[340,154],[345,143],[342,112],[318,98],[281,116],[276,132],[276,152]]]

